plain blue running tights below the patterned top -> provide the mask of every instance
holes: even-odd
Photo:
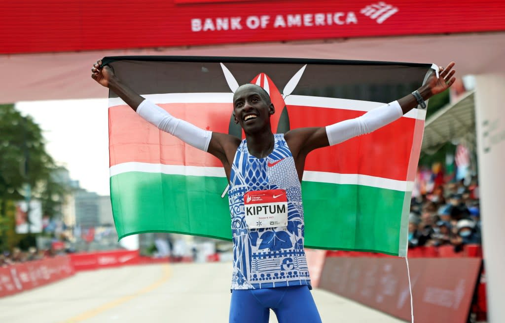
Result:
[[[268,323],[272,309],[279,323],[320,323],[307,286],[233,290],[230,323]]]

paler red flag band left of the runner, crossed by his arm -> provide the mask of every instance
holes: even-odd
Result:
[[[159,104],[176,118],[207,130],[228,133],[232,103]],[[126,162],[221,167],[221,161],[160,131],[129,106],[109,109],[110,166]]]

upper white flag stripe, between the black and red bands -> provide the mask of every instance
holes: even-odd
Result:
[[[167,94],[148,94],[143,95],[145,99],[158,104],[165,103],[226,103],[232,104],[233,93],[167,93]],[[321,107],[329,109],[355,110],[355,111],[370,111],[378,108],[384,103],[336,98],[323,98],[311,96],[296,96],[290,95],[285,100],[286,105],[291,106],[307,106]],[[126,103],[120,98],[110,98],[109,107],[125,105]],[[412,109],[405,115],[406,118],[414,118],[424,120],[426,118],[426,110]]]

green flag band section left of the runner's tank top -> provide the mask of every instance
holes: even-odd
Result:
[[[231,240],[226,177],[126,172],[111,177],[119,239],[172,232]],[[169,229],[170,228],[170,229]]]

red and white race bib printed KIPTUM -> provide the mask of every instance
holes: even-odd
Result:
[[[287,197],[285,190],[250,191],[244,194],[247,227],[287,226]]]

